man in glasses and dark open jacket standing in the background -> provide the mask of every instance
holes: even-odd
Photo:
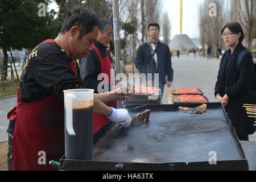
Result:
[[[164,84],[168,87],[172,85],[174,70],[171,64],[170,48],[159,41],[160,26],[158,23],[148,25],[148,35],[150,42],[143,43],[137,50],[135,65],[139,72],[159,73],[159,88],[164,89]]]

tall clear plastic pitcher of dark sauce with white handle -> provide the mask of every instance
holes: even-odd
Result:
[[[92,159],[93,92],[92,89],[64,90],[65,159]]]

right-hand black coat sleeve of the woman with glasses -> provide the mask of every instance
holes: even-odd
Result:
[[[248,53],[242,61],[240,76],[237,83],[229,86],[225,90],[229,98],[234,98],[242,93],[248,92],[248,88],[250,88],[253,79],[253,64],[253,57]]]

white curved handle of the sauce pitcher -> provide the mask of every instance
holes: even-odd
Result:
[[[76,96],[68,93],[66,94],[66,98],[66,128],[69,135],[75,136],[76,133],[73,129],[73,98],[76,98]]]

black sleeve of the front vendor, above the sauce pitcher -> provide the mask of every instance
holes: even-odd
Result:
[[[36,71],[36,82],[44,89],[55,93],[62,100],[63,90],[82,88],[82,81],[61,55],[52,53],[40,60]]]

